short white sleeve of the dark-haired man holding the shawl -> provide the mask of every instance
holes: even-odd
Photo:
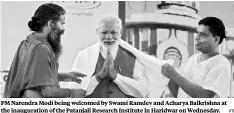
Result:
[[[202,87],[215,92],[219,97],[227,98],[231,85],[229,71],[225,67],[213,68],[207,74]]]

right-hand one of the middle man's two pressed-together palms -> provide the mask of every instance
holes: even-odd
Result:
[[[108,66],[107,75],[111,81],[114,81],[115,78],[117,77],[117,73],[114,69],[114,61],[113,61],[113,57],[110,53],[108,54],[108,59],[109,59],[109,63],[108,63],[109,66]]]

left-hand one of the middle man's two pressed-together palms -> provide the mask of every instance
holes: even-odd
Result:
[[[103,63],[102,69],[95,75],[98,82],[104,79],[107,76],[108,71],[108,54],[106,55],[106,59]]]

